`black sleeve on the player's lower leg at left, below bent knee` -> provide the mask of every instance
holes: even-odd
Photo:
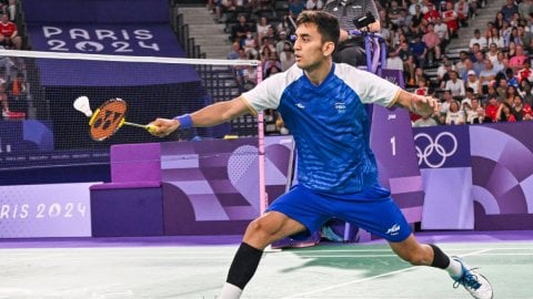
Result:
[[[262,255],[263,250],[241,243],[231,262],[227,282],[244,289],[244,286],[252,279],[253,274],[255,274]]]

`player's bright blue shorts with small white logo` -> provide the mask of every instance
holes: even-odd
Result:
[[[378,185],[353,194],[323,194],[296,185],[275,199],[266,209],[271,210],[308,228],[291,236],[295,239],[308,238],[331,218],[344,220],[389,241],[402,241],[412,233],[391,193]]]

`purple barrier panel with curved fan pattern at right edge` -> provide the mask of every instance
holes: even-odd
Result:
[[[471,126],[476,229],[533,224],[532,130],[531,122]]]

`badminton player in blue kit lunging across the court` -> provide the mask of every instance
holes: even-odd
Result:
[[[439,111],[438,101],[349,64],[333,63],[338,41],[334,16],[304,11],[296,20],[296,63],[288,71],[231,101],[151,123],[154,135],[165,136],[179,127],[213,126],[276,109],[295,140],[299,185],[248,226],[218,298],[240,298],[269,244],[288,236],[306,238],[332,217],[385,238],[412,265],[446,270],[454,285],[464,286],[474,298],[492,298],[489,281],[460,258],[416,241],[390,192],[379,184],[363,104],[398,105],[428,115]]]

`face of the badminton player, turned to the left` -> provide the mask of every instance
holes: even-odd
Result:
[[[294,58],[300,69],[312,71],[323,65],[333,48],[332,42],[322,42],[315,23],[303,23],[296,29]]]

